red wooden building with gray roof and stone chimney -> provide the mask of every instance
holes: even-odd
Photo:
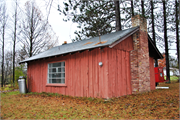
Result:
[[[153,59],[163,57],[148,36],[146,20],[137,15],[132,26],[21,61],[28,64],[28,90],[98,98],[154,90]]]

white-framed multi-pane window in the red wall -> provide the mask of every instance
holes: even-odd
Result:
[[[47,83],[65,84],[65,62],[48,64],[48,80]]]

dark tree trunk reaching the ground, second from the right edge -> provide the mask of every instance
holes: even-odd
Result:
[[[164,17],[164,41],[165,41],[165,55],[166,55],[166,79],[170,83],[170,74],[169,74],[169,52],[168,52],[168,39],[167,39],[167,23],[166,23],[166,1],[163,2],[163,17]]]

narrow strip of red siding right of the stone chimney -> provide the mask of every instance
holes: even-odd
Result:
[[[151,90],[155,90],[154,59],[149,57],[149,63],[150,63],[150,87]]]

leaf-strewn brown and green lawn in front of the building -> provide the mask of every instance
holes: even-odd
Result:
[[[1,119],[178,119],[179,83],[110,100],[59,94],[1,93]]]

